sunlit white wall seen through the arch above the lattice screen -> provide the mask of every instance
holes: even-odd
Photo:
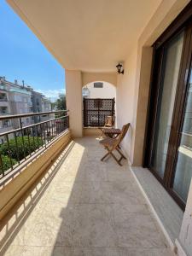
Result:
[[[100,82],[100,81],[96,81]],[[101,81],[102,82],[102,81]],[[102,82],[102,88],[95,88],[94,83],[86,84],[89,90],[89,98],[112,99],[116,97],[116,87],[113,84]]]

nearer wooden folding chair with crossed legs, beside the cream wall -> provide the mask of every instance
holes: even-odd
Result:
[[[101,160],[104,160],[108,155],[111,155],[113,159],[116,160],[116,162],[119,164],[119,166],[122,166],[120,161],[126,158],[125,158],[125,155],[121,152],[119,148],[119,144],[122,142],[123,138],[125,137],[125,134],[129,129],[129,126],[130,124],[126,124],[123,126],[121,133],[119,134],[119,137],[117,138],[107,137],[107,138],[104,138],[102,141],[100,141],[100,143],[104,146],[104,148],[108,150],[108,153],[105,154]],[[113,150],[117,150],[118,153],[120,154],[119,160],[113,154]]]

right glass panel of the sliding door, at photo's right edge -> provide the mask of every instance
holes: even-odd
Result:
[[[173,190],[186,202],[192,177],[192,72],[190,72],[187,101],[180,135],[181,140],[177,152]]]

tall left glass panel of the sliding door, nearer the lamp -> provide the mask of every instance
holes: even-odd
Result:
[[[177,79],[183,49],[183,32],[165,45],[160,74],[160,89],[154,125],[154,143],[151,168],[163,179],[172,113],[176,96]]]

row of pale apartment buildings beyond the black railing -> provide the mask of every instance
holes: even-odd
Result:
[[[9,82],[5,77],[0,77],[0,115],[40,113],[51,111],[51,102],[31,86]],[[49,119],[49,115],[22,118],[22,125],[32,125],[39,121]],[[0,132],[9,131],[20,127],[18,119],[0,121]]]

